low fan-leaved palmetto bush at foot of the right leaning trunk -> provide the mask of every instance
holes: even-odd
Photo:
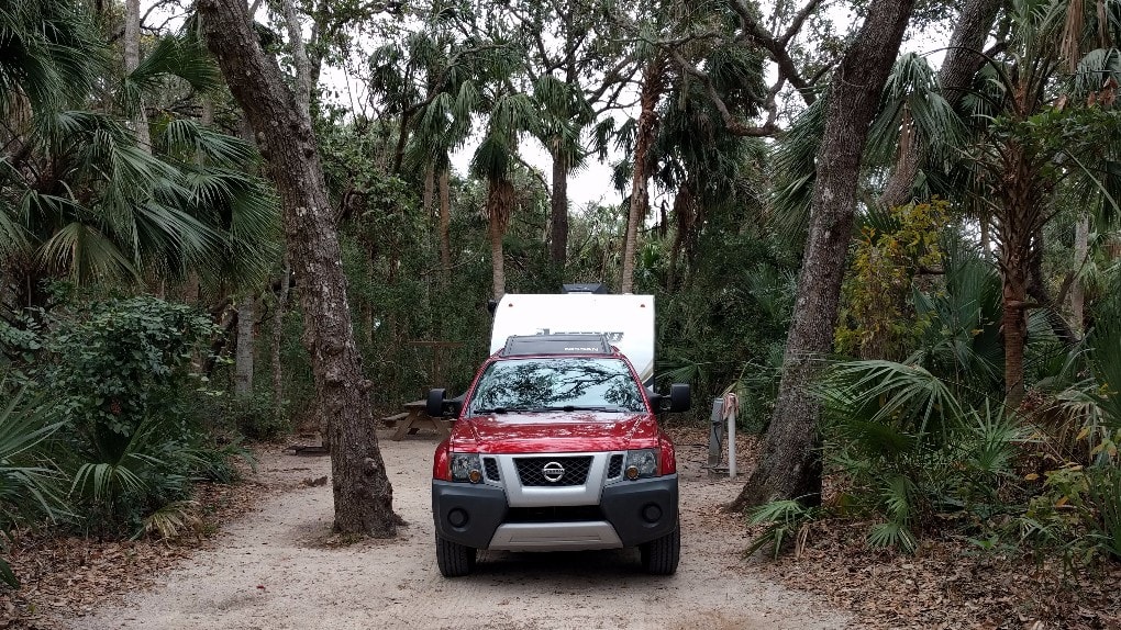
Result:
[[[911,551],[947,515],[985,527],[1007,509],[1028,434],[999,405],[965,406],[926,369],[882,360],[831,367],[817,395],[836,505],[882,520],[870,544]]]

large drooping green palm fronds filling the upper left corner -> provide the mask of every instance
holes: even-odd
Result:
[[[242,170],[254,160],[250,147],[170,116],[156,128],[155,147],[138,145],[121,120],[83,109],[108,55],[77,2],[17,3],[0,16],[11,53],[0,62],[0,106],[10,121],[0,254],[26,280],[22,303],[40,301],[37,280],[47,275],[136,281],[198,267],[216,280],[267,269],[275,204]],[[122,110],[173,81],[215,87],[203,54],[189,37],[160,40],[120,86]]]

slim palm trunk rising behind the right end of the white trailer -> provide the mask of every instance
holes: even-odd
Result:
[[[650,173],[646,162],[654,144],[654,130],[658,122],[656,107],[661,98],[665,83],[666,62],[658,57],[642,68],[642,91],[639,95],[641,111],[638,116],[638,133],[634,137],[634,169],[631,176],[631,204],[627,215],[627,236],[623,238],[623,271],[619,281],[619,292],[630,293],[634,289],[634,252],[638,250],[638,227],[646,218],[650,206],[648,184]]]

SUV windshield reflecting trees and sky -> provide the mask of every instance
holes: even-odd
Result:
[[[498,360],[475,387],[469,413],[643,412],[638,384],[620,359],[546,357]]]

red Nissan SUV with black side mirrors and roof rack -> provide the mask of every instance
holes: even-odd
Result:
[[[433,462],[441,573],[466,575],[479,549],[637,546],[647,572],[673,574],[677,463],[657,414],[688,407],[688,385],[654,394],[605,336],[510,337],[464,396],[428,396],[429,415],[456,419]]]

